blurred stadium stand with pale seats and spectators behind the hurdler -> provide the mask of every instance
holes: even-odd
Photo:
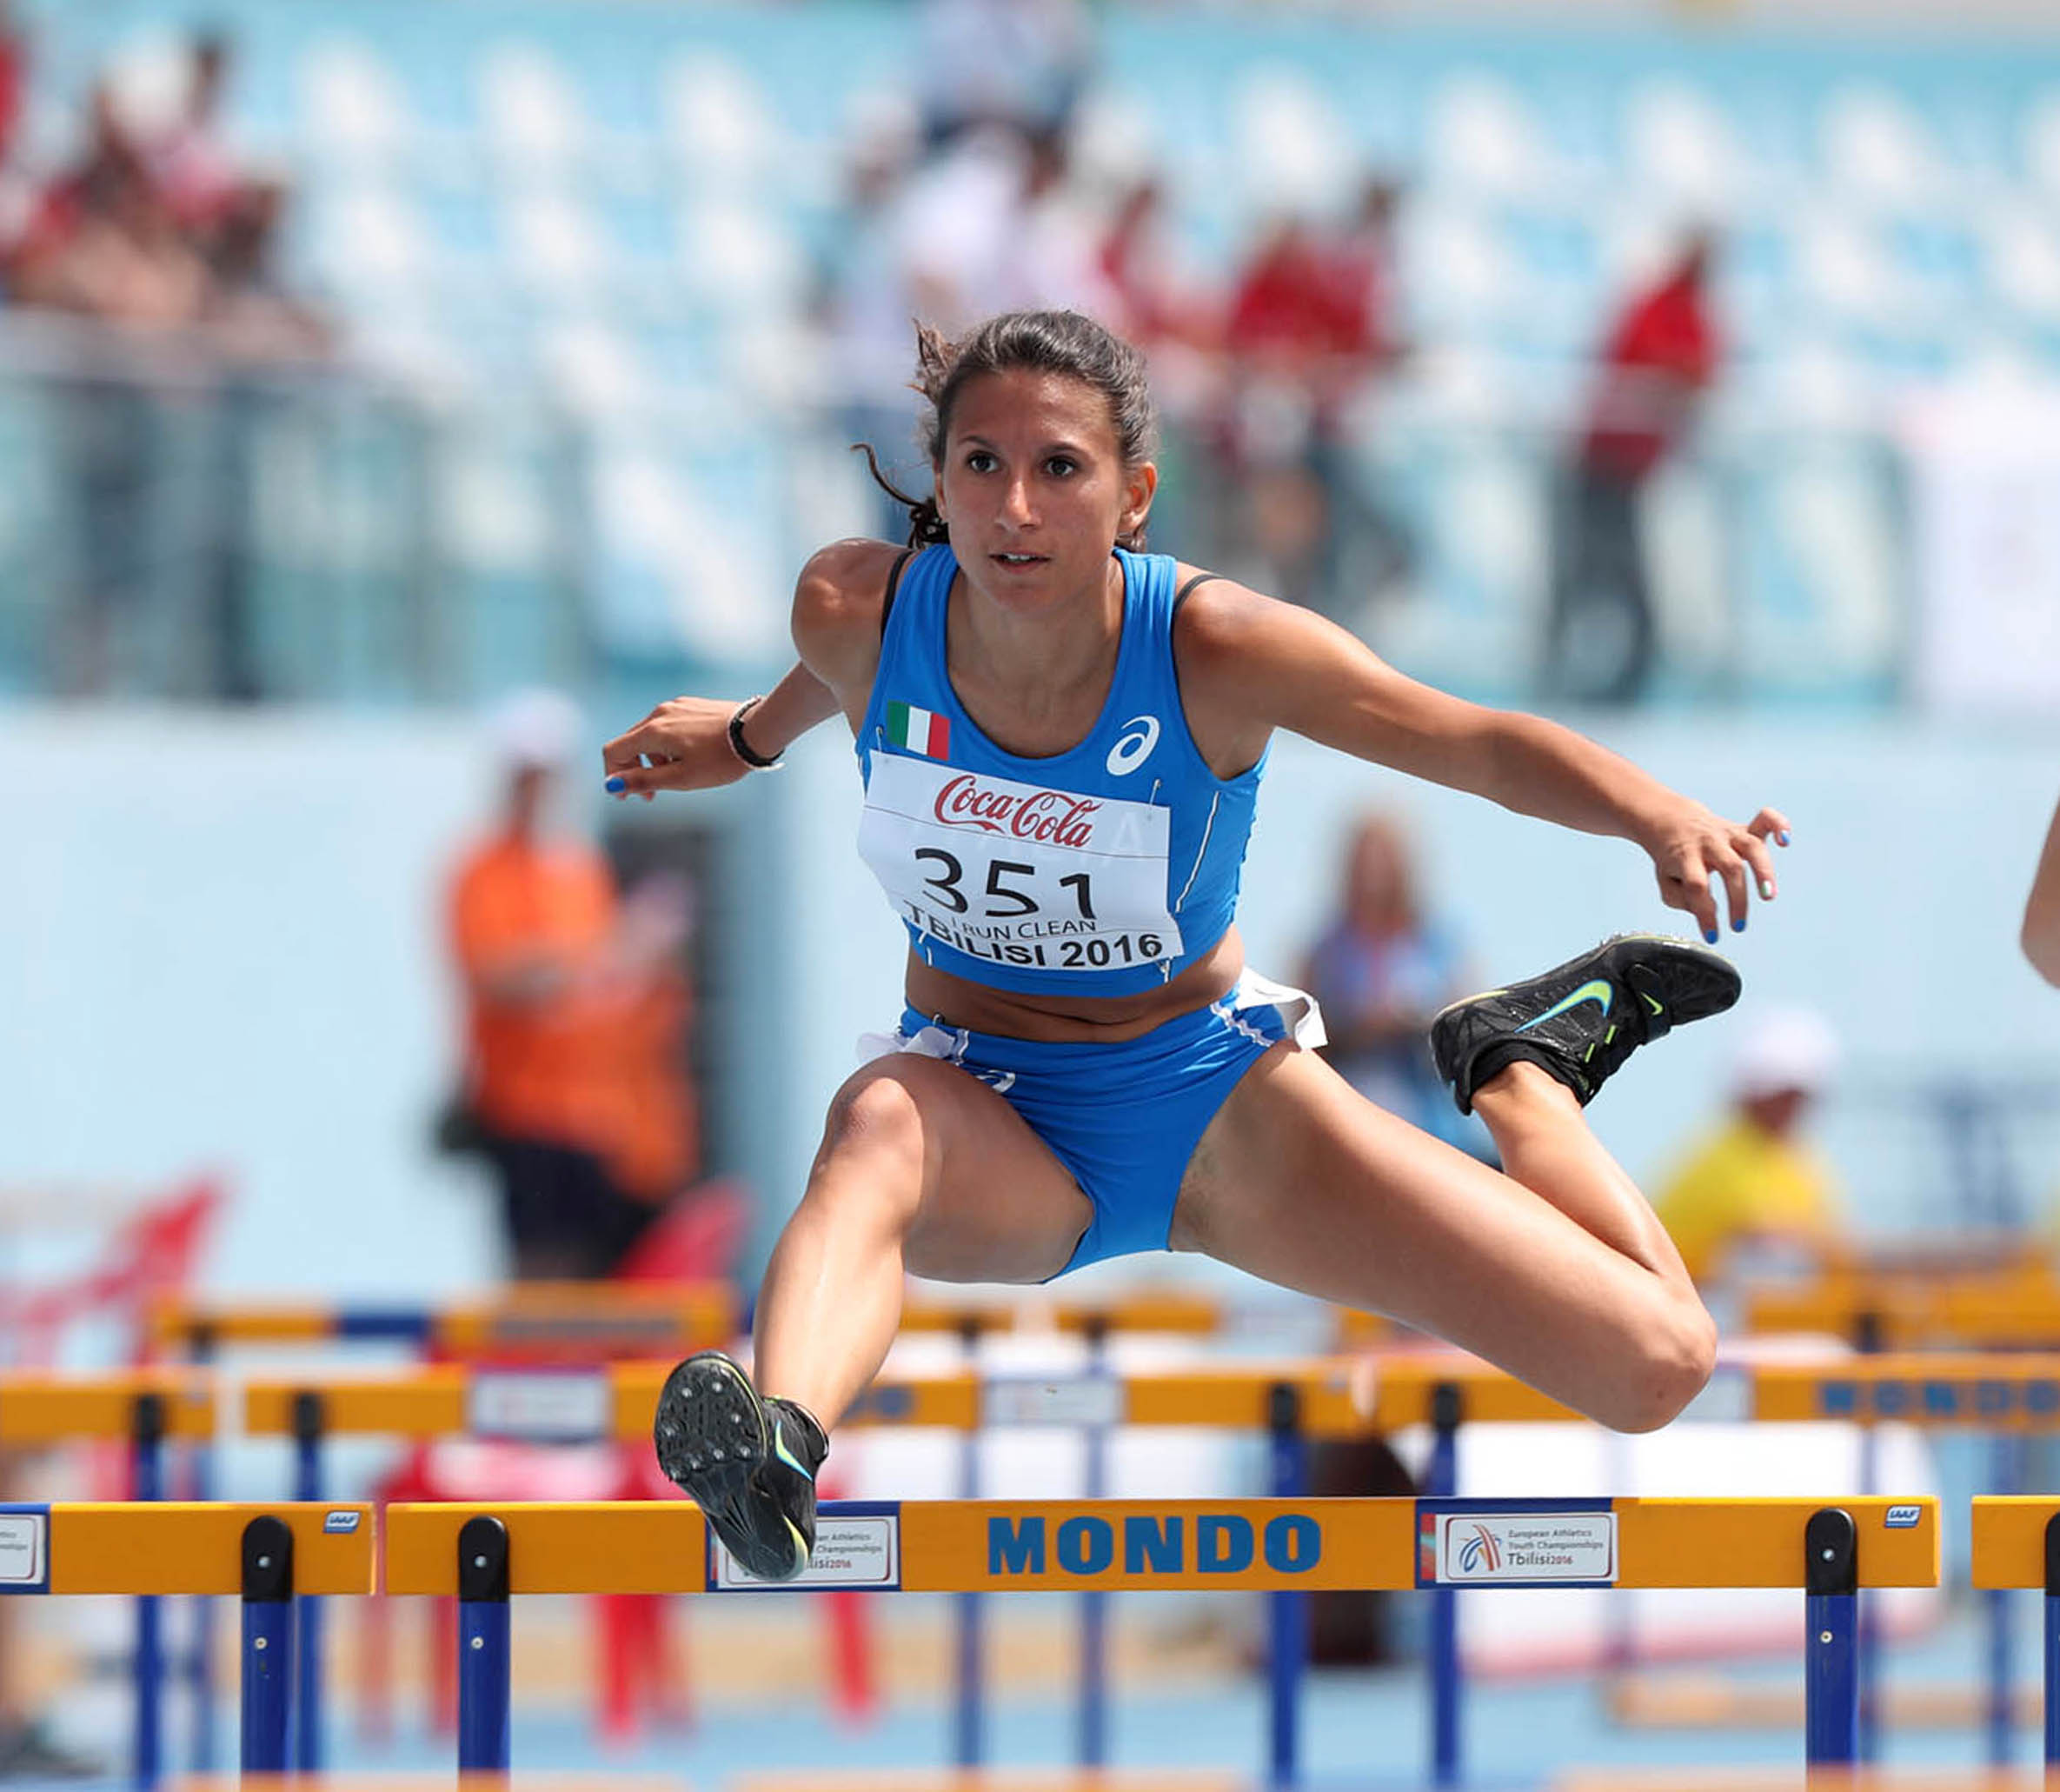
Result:
[[[2031,27],[1669,10],[16,4],[0,688],[750,667],[892,525],[908,319],[1069,303],[1152,354],[1160,540],[1438,682],[2050,698]]]

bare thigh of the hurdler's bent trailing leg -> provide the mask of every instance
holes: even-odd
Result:
[[[1275,1046],[1195,1149],[1174,1248],[1436,1333],[1541,1386],[1621,1345],[1650,1275],[1551,1203]]]

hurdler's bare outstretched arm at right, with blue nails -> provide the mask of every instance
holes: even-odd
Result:
[[[1252,764],[1283,727],[1522,816],[1636,840],[1660,898],[1693,915],[1706,937],[1718,927],[1712,875],[1724,880],[1732,927],[1745,925],[1749,890],[1774,900],[1767,840],[1788,836],[1778,812],[1726,822],[1559,723],[1405,678],[1308,610],[1211,581],[1182,604],[1176,645],[1195,739],[1220,770]]]

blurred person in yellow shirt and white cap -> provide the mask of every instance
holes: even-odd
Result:
[[[1745,1034],[1728,1116],[1654,1201],[1697,1283],[1753,1267],[1815,1265],[1838,1242],[1831,1172],[1802,1143],[1835,1069],[1838,1040],[1807,1009],[1763,1013]]]

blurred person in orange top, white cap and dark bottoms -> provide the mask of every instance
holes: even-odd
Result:
[[[505,812],[449,890],[466,989],[461,1125],[501,1184],[517,1279],[606,1275],[692,1172],[678,892],[618,906],[606,859],[552,826],[579,737],[554,692],[499,717]]]

